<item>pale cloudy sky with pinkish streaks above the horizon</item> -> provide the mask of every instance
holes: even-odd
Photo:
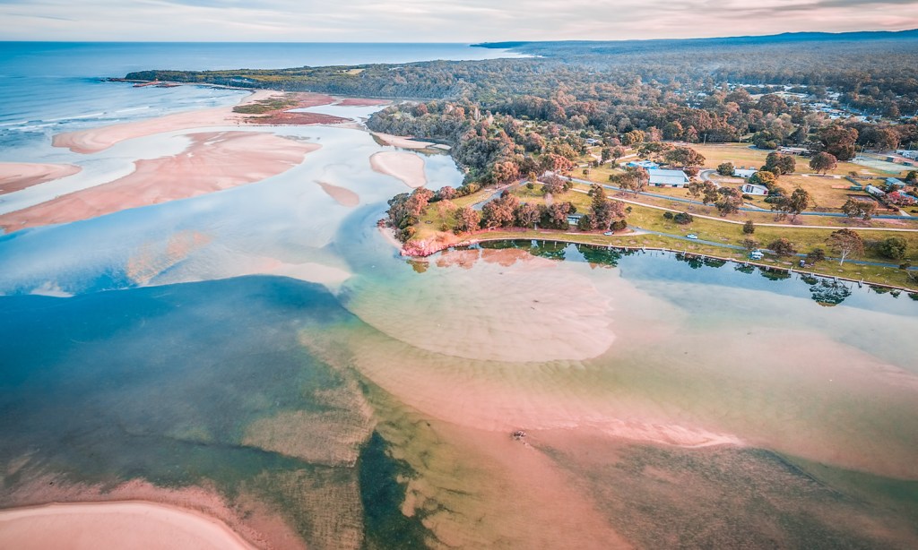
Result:
[[[477,42],[918,28],[918,0],[0,0],[3,40]]]

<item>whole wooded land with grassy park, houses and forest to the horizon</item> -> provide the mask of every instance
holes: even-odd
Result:
[[[918,31],[480,46],[527,57],[126,78],[403,100],[367,126],[445,143],[465,171],[458,189],[394,199],[390,223],[419,253],[480,230],[602,234],[640,222],[684,236],[711,217],[724,223],[704,226],[711,246],[692,243],[699,252],[762,250],[811,267],[841,255],[846,277],[915,287],[918,174],[888,155],[918,143]],[[686,184],[655,182],[648,168],[681,170]],[[754,225],[774,235],[760,242]],[[832,235],[857,228],[843,254]]]

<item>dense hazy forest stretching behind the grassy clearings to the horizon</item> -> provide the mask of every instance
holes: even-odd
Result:
[[[483,46],[531,57],[127,78],[413,99],[368,126],[446,141],[482,183],[563,170],[588,143],[614,157],[660,140],[748,139],[844,160],[918,142],[916,31]]]

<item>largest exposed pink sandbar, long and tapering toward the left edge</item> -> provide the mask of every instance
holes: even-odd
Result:
[[[262,181],[297,166],[320,147],[259,132],[200,132],[187,137],[192,143],[178,155],[137,160],[136,170],[123,178],[0,215],[0,227],[12,232],[66,224]]]

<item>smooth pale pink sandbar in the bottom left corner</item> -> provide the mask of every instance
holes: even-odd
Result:
[[[50,504],[0,511],[0,547],[18,550],[254,548],[215,518],[144,501]]]

